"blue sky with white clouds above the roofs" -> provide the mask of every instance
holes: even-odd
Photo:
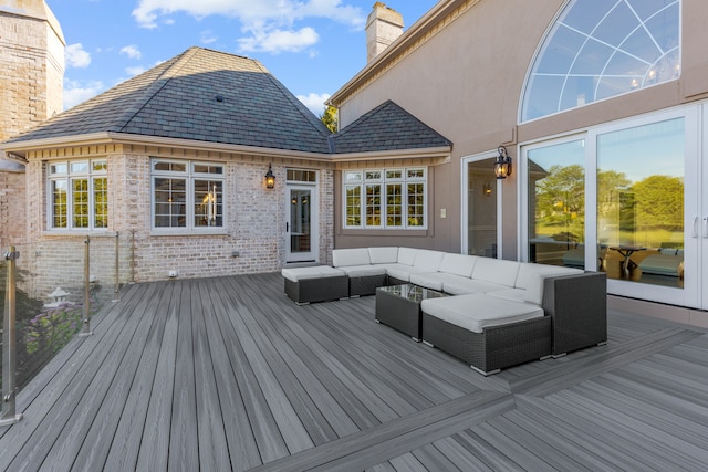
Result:
[[[46,0],[66,41],[64,108],[191,46],[260,61],[316,116],[366,65],[375,0]],[[437,0],[387,0],[407,29]]]

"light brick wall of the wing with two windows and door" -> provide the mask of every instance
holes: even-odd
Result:
[[[82,153],[83,157],[79,156]],[[59,156],[32,157],[27,166],[28,181],[32,182],[28,189],[31,241],[21,249],[18,266],[25,274],[23,290],[41,298],[55,286],[83,281],[85,235],[90,237],[91,274],[107,286],[116,283],[116,240],[119,284],[167,280],[173,270],[179,279],[279,271],[285,262],[285,169],[312,168],[308,162],[273,159],[277,183],[268,190],[263,176],[269,159],[184,155],[185,159],[226,164],[226,231],[156,234],[150,230],[150,154],[102,147],[66,150],[64,155],[62,159],[107,157],[108,231],[77,234],[45,231],[46,165],[42,159]],[[319,180],[320,261],[330,263],[334,245],[334,171],[321,169]],[[232,255],[235,251],[238,256]]]

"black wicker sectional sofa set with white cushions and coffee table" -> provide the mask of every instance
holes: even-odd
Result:
[[[376,294],[376,321],[483,375],[607,340],[602,272],[388,247],[282,275],[298,304]]]

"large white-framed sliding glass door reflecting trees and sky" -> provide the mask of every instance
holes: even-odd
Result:
[[[612,294],[705,308],[701,116],[708,105],[522,146],[522,258],[606,272]]]

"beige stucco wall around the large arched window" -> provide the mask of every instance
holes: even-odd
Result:
[[[645,88],[555,116],[518,125],[519,101],[537,48],[563,0],[449,1],[441,29],[430,29],[403,59],[379,61],[374,80],[343,88],[341,126],[386,99],[414,114],[454,143],[449,164],[436,168],[435,242],[424,247],[459,251],[461,221],[460,159],[504,144],[516,160],[517,144],[553,136],[706,97],[708,92],[708,9],[700,0],[683,2],[683,72],[678,81]],[[472,4],[473,3],[473,4]],[[466,4],[469,9],[459,14]],[[415,29],[415,28],[413,28]],[[363,48],[363,45],[362,45]],[[386,56],[386,54],[384,54]],[[393,64],[393,65],[392,65]],[[381,65],[385,65],[381,70]],[[385,71],[385,72],[384,72]],[[351,84],[350,84],[351,85]],[[348,85],[347,85],[348,86]],[[503,258],[517,256],[517,175],[502,185]],[[445,209],[447,218],[440,218]],[[385,235],[353,239],[337,233],[336,245],[379,244]]]

